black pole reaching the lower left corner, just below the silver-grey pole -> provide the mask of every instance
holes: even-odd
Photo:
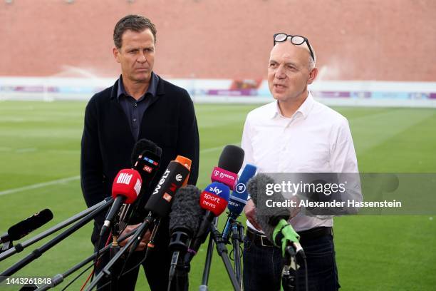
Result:
[[[6,277],[13,275],[15,272],[18,272],[23,267],[28,265],[30,262],[33,262],[33,260],[36,260],[38,257],[40,257],[44,252],[47,250],[50,250],[51,247],[54,247],[58,244],[58,242],[61,242],[65,238],[67,238],[69,235],[73,234],[78,230],[79,228],[83,227],[86,223],[88,223],[90,220],[95,218],[97,215],[99,215],[103,210],[110,207],[112,205],[113,200],[109,200],[108,203],[105,203],[104,205],[101,205],[99,208],[93,210],[92,213],[86,215],[84,218],[78,221],[75,225],[73,225],[71,228],[68,228],[68,230],[65,230],[60,235],[57,235],[53,240],[50,240],[45,245],[42,245],[41,247],[38,247],[36,250],[33,250],[29,255],[24,257],[22,260],[19,260],[19,262],[16,262],[14,265],[9,267],[9,269],[5,270],[0,274],[0,282],[3,282],[6,280]]]

